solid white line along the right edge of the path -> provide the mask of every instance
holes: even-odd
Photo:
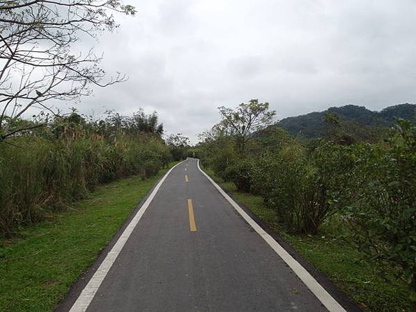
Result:
[[[270,247],[275,250],[275,252],[286,262],[286,264],[295,272],[295,274],[304,282],[304,284],[311,290],[313,295],[322,302],[322,304],[330,312],[346,312],[346,310],[341,306],[329,293],[318,283],[318,281],[313,278],[313,276],[299,263],[297,262],[275,239],[272,238],[268,233],[261,228],[260,225],[256,223],[221,187],[214,182],[214,180],[207,175],[199,165],[198,159],[198,169],[202,172],[207,179],[214,184],[214,187],[218,189],[222,196],[236,209],[236,211],[241,214],[244,220],[270,245]]]

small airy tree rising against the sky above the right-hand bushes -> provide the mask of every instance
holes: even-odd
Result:
[[[259,103],[257,99],[241,103],[235,109],[220,106],[218,110],[223,117],[222,125],[229,128],[236,139],[237,151],[241,157],[244,157],[250,136],[270,125],[276,115],[274,110],[269,110],[269,103]]]

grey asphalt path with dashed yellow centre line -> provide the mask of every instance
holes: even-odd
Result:
[[[173,168],[153,195],[71,311],[343,311],[314,295],[320,285],[304,284],[196,159]]]

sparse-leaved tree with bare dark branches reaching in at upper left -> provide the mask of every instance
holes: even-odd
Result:
[[[49,110],[51,99],[72,100],[125,80],[103,81],[101,56],[73,53],[80,35],[96,37],[118,25],[113,12],[134,15],[120,0],[0,1],[0,142],[42,123],[20,127],[33,107]]]

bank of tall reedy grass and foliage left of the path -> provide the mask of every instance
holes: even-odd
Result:
[[[116,116],[88,121],[72,112],[31,135],[8,139],[20,148],[0,143],[1,234],[69,207],[96,184],[129,175],[147,178],[168,164],[171,155],[157,133]]]

